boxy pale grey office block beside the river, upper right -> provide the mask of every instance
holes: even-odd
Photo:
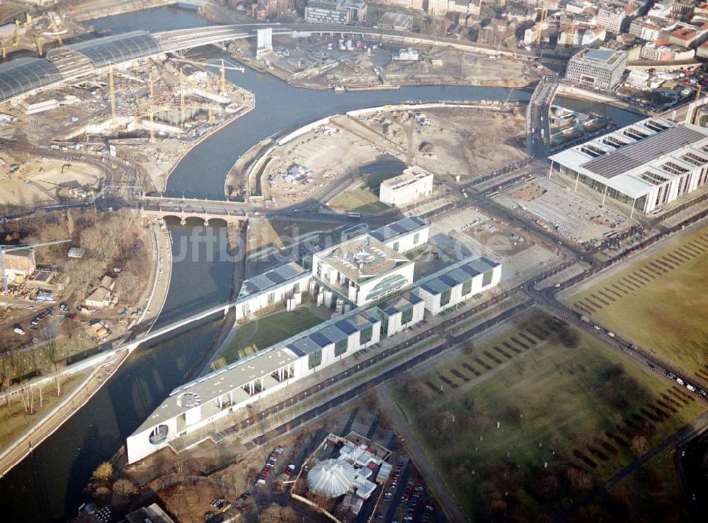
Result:
[[[573,55],[566,69],[572,84],[609,91],[622,79],[627,67],[627,53],[609,49],[583,49]]]

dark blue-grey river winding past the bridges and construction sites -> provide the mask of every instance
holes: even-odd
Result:
[[[171,30],[210,25],[191,11],[160,8],[91,22],[97,30]],[[264,137],[331,113],[406,100],[499,100],[510,89],[469,86],[410,87],[396,91],[335,94],[296,89],[267,74],[246,69],[227,72],[229,80],[256,94],[256,109],[191,150],[167,186],[173,196],[224,198],[224,177],[234,161]],[[513,91],[527,100],[527,91]],[[595,103],[566,100],[579,111],[605,113],[619,125],[639,119],[633,113]],[[211,228],[210,228],[211,229]],[[232,262],[207,257],[204,243],[188,240],[192,227],[171,227],[173,276],[158,325],[166,325],[229,297]],[[224,238],[215,235],[217,252]],[[195,247],[196,246],[196,247]],[[193,372],[217,333],[217,320],[150,347],[140,347],[110,381],[57,432],[0,480],[0,514],[8,522],[64,522],[89,499],[84,487],[98,463],[110,459],[125,438],[161,400]]]

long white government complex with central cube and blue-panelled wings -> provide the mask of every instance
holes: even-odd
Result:
[[[501,264],[471,258],[413,282],[403,253],[428,242],[430,226],[404,218],[314,254],[312,271],[291,263],[244,281],[234,303],[242,317],[295,300],[307,289],[330,320],[185,383],[127,438],[130,463],[206,427],[293,381],[498,285]],[[363,308],[360,305],[369,305]],[[288,306],[288,310],[290,310]]]

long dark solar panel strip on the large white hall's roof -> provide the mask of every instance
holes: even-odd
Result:
[[[706,135],[697,130],[683,126],[674,127],[591,159],[581,167],[603,176],[603,178],[614,178],[649,162],[651,159],[673,152],[705,137]]]

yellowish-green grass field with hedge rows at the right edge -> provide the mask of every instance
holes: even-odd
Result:
[[[571,302],[708,381],[708,227],[632,264]]]

